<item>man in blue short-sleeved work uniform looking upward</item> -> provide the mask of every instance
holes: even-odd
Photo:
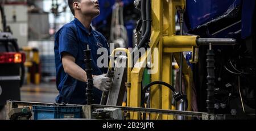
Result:
[[[84,50],[89,45],[93,69],[93,99],[99,104],[102,91],[110,89],[110,78],[106,77],[107,67],[97,66],[99,48],[108,49],[105,37],[90,26],[100,14],[97,0],[68,0],[75,19],[65,24],[55,35],[56,84],[59,95],[56,103],[86,104],[86,72]],[[106,54],[105,54],[106,55]]]

